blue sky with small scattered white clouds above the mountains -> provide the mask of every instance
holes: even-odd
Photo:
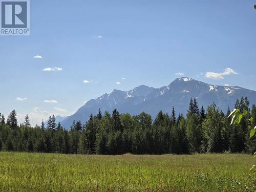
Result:
[[[39,123],[113,89],[181,76],[256,90],[254,4],[32,0],[30,36],[0,36],[0,112]]]

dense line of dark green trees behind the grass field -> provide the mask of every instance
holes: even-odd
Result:
[[[7,120],[0,113],[0,150],[104,155],[253,153],[256,140],[248,139],[246,119],[253,117],[256,125],[256,106],[250,109],[247,97],[242,97],[234,108],[249,112],[239,125],[230,125],[229,109],[224,114],[212,103],[205,111],[195,98],[190,99],[186,116],[176,115],[174,107],[170,114],[160,111],[155,120],[144,112],[132,116],[116,109],[112,114],[99,110],[85,124],[74,121],[69,131],[56,123],[54,115],[35,127],[26,115],[18,125],[13,110]]]

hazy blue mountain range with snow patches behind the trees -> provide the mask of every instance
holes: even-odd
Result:
[[[153,118],[162,110],[170,113],[174,106],[176,114],[186,114],[190,98],[197,98],[199,106],[206,109],[215,102],[223,112],[228,106],[233,109],[236,99],[247,96],[250,103],[256,103],[256,92],[241,87],[216,86],[189,77],[175,79],[168,86],[153,88],[141,85],[130,91],[114,89],[110,94],[103,94],[96,99],[89,100],[76,113],[65,117],[61,125],[69,129],[73,121],[81,120],[85,123],[90,114],[97,114],[117,109],[119,113],[137,115],[144,111]],[[60,118],[61,119],[61,118]]]

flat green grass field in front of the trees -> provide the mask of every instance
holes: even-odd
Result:
[[[242,154],[0,153],[0,191],[253,191]]]

